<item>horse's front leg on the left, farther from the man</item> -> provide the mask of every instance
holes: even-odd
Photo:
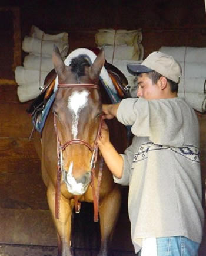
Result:
[[[58,239],[58,256],[71,256],[70,235],[71,235],[71,214],[73,205],[71,200],[61,195],[59,200],[59,219],[55,218],[55,188],[48,186],[47,199],[55,223]]]

